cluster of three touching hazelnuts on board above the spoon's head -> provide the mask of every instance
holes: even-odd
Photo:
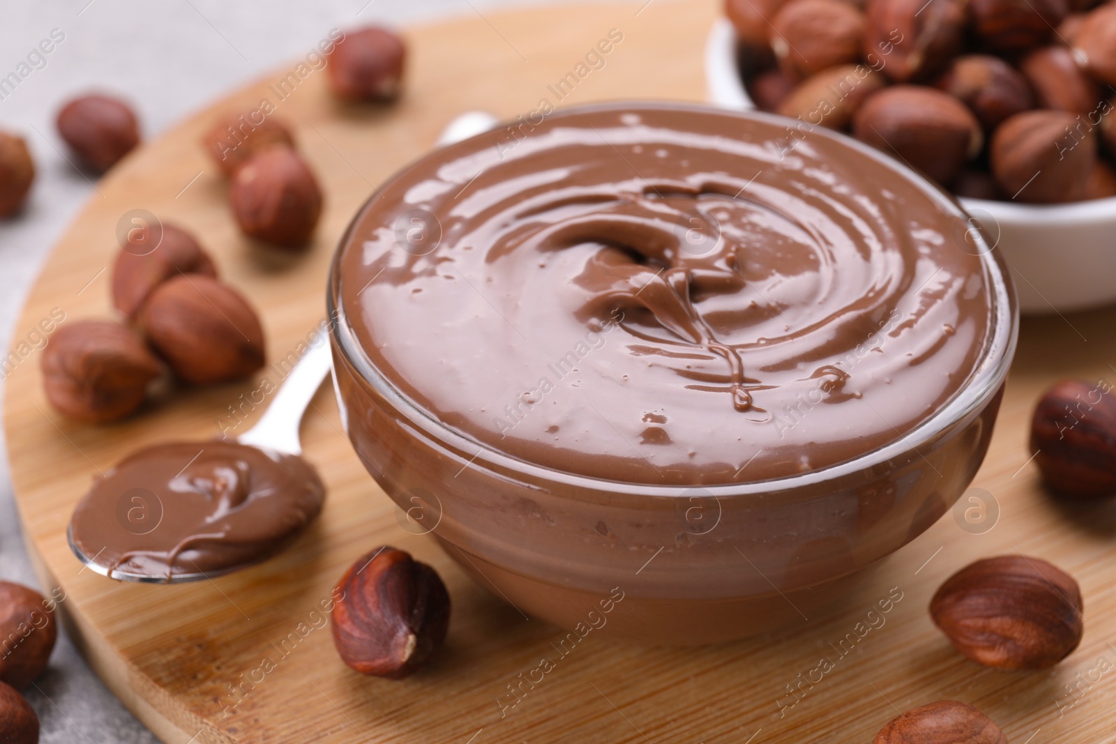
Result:
[[[69,323],[44,350],[47,399],[69,418],[124,418],[166,367],[192,385],[241,379],[263,367],[259,317],[218,281],[213,260],[185,230],[160,224],[128,233],[113,267],[112,291],[127,325]]]

